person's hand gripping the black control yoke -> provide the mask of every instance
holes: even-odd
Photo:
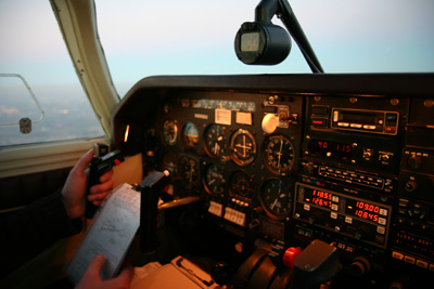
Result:
[[[89,173],[88,165],[92,160],[94,150],[90,149],[84,155],[75,167],[71,170],[62,188],[63,203],[71,220],[81,218],[86,210],[86,184]],[[113,170],[104,173],[100,178],[100,183],[90,188],[88,200],[93,205],[100,206],[102,200],[108,195],[113,188]]]

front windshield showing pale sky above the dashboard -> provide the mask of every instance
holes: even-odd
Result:
[[[276,66],[242,64],[233,49],[257,0],[97,1],[97,17],[120,96],[152,75],[311,73],[292,41]],[[291,0],[326,73],[434,71],[432,0]],[[280,19],[273,24],[283,26]]]

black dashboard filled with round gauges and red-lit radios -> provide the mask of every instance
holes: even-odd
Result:
[[[332,288],[414,286],[434,272],[432,83],[433,74],[145,78],[113,114],[113,146],[141,153],[144,174],[170,172],[167,201],[199,197],[165,222],[217,244],[187,253],[218,251],[241,287],[291,286],[280,258],[316,239],[339,251]]]

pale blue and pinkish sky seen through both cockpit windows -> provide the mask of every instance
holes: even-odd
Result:
[[[155,75],[310,74],[294,41],[289,57],[279,65],[238,61],[235,34],[242,23],[254,21],[258,2],[95,0],[99,37],[119,96],[140,79]],[[290,3],[326,73],[434,71],[433,0]],[[282,25],[276,17],[272,22]],[[63,117],[66,129],[75,128],[82,115],[99,126],[49,0],[0,0],[0,74],[22,75],[46,113],[44,122],[35,126],[30,136],[39,129],[46,137],[42,129],[61,122],[53,116]],[[0,81],[0,91],[8,86]],[[38,118],[35,104],[28,105],[30,94],[26,97],[29,103],[16,107],[8,93],[0,93],[1,121],[17,122],[31,114]],[[79,107],[80,114],[73,107]],[[92,123],[84,127],[93,128]],[[15,130],[0,126],[1,135],[3,129]],[[75,135],[67,133],[67,137]],[[28,136],[20,135],[18,142],[33,142]]]

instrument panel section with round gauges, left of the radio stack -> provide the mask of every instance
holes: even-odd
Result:
[[[156,132],[157,169],[171,172],[176,189],[206,194],[219,218],[231,216],[215,206],[232,208],[242,219],[235,225],[248,227],[253,209],[276,220],[290,216],[303,97],[188,92],[162,107],[148,130]],[[267,115],[280,117],[272,133],[263,129]]]

